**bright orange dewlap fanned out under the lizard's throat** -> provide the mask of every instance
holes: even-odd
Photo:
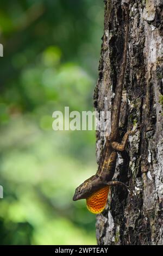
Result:
[[[104,210],[108,199],[109,188],[109,186],[105,186],[86,199],[87,209],[92,214],[99,214]]]

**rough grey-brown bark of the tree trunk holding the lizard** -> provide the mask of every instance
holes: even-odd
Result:
[[[105,0],[104,36],[95,89],[98,112],[111,109],[124,43],[121,0]],[[163,244],[163,48],[162,0],[130,3],[130,32],[120,132],[133,122],[141,130],[130,137],[125,153],[118,154],[115,180],[129,185],[111,188],[108,206],[97,215],[99,245]],[[105,100],[107,99],[107,101]],[[97,132],[97,162],[105,140]]]

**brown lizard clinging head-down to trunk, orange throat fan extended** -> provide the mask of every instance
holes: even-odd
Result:
[[[98,214],[104,209],[108,198],[109,187],[124,185],[120,181],[112,181],[112,177],[114,176],[116,168],[117,151],[123,151],[126,148],[129,135],[133,135],[136,131],[127,131],[122,139],[122,142],[117,142],[119,137],[122,90],[127,62],[129,3],[130,1],[122,3],[126,23],[126,33],[124,36],[121,71],[120,75],[118,76],[115,89],[115,97],[111,111],[111,132],[110,135],[106,137],[106,143],[102,152],[97,173],[91,176],[89,179],[85,180],[79,187],[77,187],[73,196],[74,201],[79,199],[86,199],[87,208],[95,214]]]

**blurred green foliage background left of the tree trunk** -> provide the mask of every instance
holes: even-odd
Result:
[[[74,189],[96,172],[95,132],[53,131],[52,113],[93,109],[103,1],[1,0],[0,243],[93,245]]]

